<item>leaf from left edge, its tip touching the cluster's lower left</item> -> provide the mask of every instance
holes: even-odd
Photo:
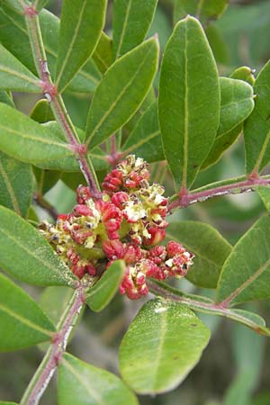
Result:
[[[74,284],[76,277],[37,229],[4,207],[0,223],[0,266],[6,272],[29,284]]]

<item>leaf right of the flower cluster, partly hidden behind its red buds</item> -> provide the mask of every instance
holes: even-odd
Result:
[[[195,255],[186,278],[200,287],[216,288],[222,265],[231,251],[227,240],[210,225],[194,220],[170,223],[166,238],[177,240]]]

